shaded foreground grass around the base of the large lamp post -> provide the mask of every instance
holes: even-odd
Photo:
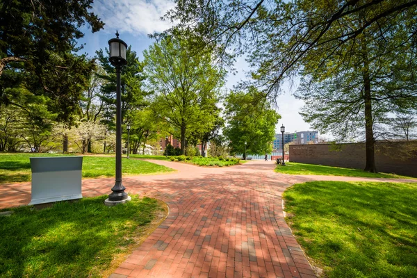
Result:
[[[167,214],[156,199],[109,207],[106,198],[0,216],[0,277],[101,277]]]

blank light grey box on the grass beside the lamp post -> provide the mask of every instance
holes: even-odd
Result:
[[[81,199],[83,156],[31,157],[29,205]]]

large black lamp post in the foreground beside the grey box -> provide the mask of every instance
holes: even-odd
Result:
[[[119,33],[116,37],[108,41],[110,49],[110,57],[108,60],[116,68],[116,182],[111,188],[113,191],[108,195],[108,199],[104,202],[108,206],[127,202],[131,199],[124,190],[122,184],[122,108],[120,96],[120,70],[127,64],[126,60],[126,42],[120,40]]]

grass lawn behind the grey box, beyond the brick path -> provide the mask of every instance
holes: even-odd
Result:
[[[0,182],[13,183],[31,180],[31,163],[29,157],[63,156],[63,154],[0,154]],[[84,156],[83,177],[114,177],[114,156]],[[122,159],[124,175],[153,174],[173,171],[171,168],[140,161]]]

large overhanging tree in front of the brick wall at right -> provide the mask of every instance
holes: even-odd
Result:
[[[417,1],[177,3],[166,18],[179,24],[163,35],[204,38],[202,45],[220,45],[221,58],[247,53],[252,80],[241,86],[256,85],[271,98],[286,77],[302,74],[305,119],[340,138],[364,131],[365,170],[376,172],[375,121],[416,106]]]

